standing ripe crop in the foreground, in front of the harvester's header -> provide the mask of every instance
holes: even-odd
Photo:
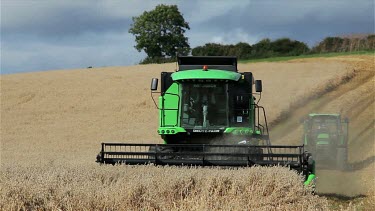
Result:
[[[301,176],[282,167],[202,169],[51,164],[9,167],[1,174],[3,210],[327,208],[326,200],[312,196],[301,185]]]

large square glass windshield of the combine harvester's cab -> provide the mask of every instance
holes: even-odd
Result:
[[[182,127],[220,129],[228,125],[226,84],[183,84]]]

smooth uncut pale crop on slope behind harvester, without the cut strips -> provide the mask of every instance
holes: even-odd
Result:
[[[87,163],[103,141],[161,143],[150,80],[174,69],[175,64],[139,65],[2,76],[4,163],[14,152],[20,163],[39,161],[38,155]],[[350,71],[331,61],[240,64],[239,69],[263,80],[261,103],[270,121],[314,87]]]

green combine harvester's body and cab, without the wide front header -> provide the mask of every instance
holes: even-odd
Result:
[[[179,57],[176,72],[161,73],[159,128],[166,144],[270,145],[262,82],[239,73],[235,57]],[[156,90],[158,79],[152,79]]]

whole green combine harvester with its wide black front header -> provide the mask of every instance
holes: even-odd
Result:
[[[255,85],[255,92],[253,90]],[[273,146],[258,105],[262,81],[238,72],[236,57],[178,57],[176,72],[151,82],[160,94],[158,133],[164,144],[102,143],[97,162],[129,165],[289,166],[315,180],[304,146]],[[255,97],[258,97],[256,99]]]

